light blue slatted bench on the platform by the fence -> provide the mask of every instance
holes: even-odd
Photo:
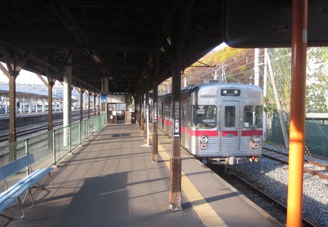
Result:
[[[16,219],[16,218],[1,214],[1,212],[3,212],[12,202],[14,202],[16,199],[18,199],[20,208],[23,213],[23,215],[20,218],[23,218],[25,215],[23,207],[29,198],[32,201],[31,207],[34,206],[34,199],[33,199],[32,192],[31,192],[32,187],[35,186],[36,184],[38,184],[37,182],[39,180],[41,180],[41,178],[43,178],[46,174],[48,174],[50,177],[51,188],[53,187],[52,178],[50,176],[50,171],[51,171],[51,169],[53,169],[53,167],[41,168],[41,169],[37,169],[36,171],[32,172],[31,164],[33,162],[34,162],[33,154],[28,154],[22,158],[19,158],[15,161],[12,161],[12,162],[0,167],[0,180],[1,181],[4,180],[6,183],[6,191],[4,191],[0,194],[0,215],[1,216],[4,216],[9,219]],[[16,175],[20,174],[20,171],[26,167],[30,167],[30,170],[29,170],[30,174],[27,175],[26,177],[24,177],[23,179],[21,179],[20,181],[18,181],[17,183],[15,183],[10,188],[8,188],[6,178],[8,178],[12,175],[15,175],[15,174]],[[24,173],[26,173],[26,171],[24,171]],[[41,187],[41,189],[45,189],[40,184],[38,184],[38,185]],[[25,194],[23,201],[21,201],[19,196],[24,191],[26,191],[26,194]],[[29,194],[29,197],[26,200],[26,197],[28,194]]]

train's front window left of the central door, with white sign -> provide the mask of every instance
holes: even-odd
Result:
[[[215,105],[193,105],[191,127],[216,126],[216,106]]]

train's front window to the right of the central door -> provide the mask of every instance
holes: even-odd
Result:
[[[261,128],[262,127],[262,106],[246,105],[244,108],[244,127]]]

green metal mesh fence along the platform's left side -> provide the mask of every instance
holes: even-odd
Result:
[[[104,113],[82,122],[0,146],[0,166],[31,153],[35,159],[32,170],[56,165],[68,153],[92,136],[89,129],[90,124],[92,124],[93,129],[100,129],[106,123],[107,114]],[[26,169],[21,169],[19,173],[7,178],[8,187],[24,178],[27,173]],[[5,190],[6,184],[1,181],[0,192]]]

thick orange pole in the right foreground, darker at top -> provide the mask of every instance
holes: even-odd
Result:
[[[289,227],[302,225],[307,0],[293,1],[292,15],[292,86],[287,199],[287,226]]]

